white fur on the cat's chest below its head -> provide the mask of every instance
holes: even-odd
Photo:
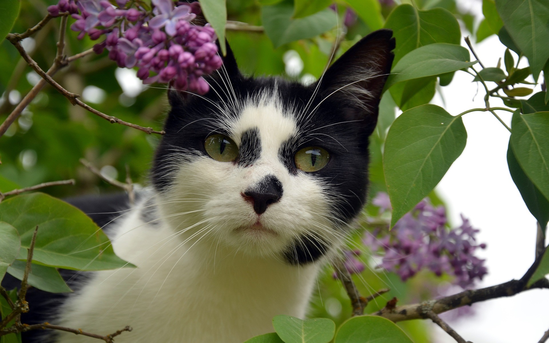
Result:
[[[318,267],[289,266],[144,224],[138,211],[116,228],[116,254],[137,268],[94,273],[56,324],[124,342],[242,343],[273,331],[277,314],[304,317]],[[200,232],[200,230],[195,230]],[[194,244],[194,246],[193,246]],[[92,342],[63,333],[58,342]]]

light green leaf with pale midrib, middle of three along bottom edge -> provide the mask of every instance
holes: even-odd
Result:
[[[335,323],[327,318],[299,319],[276,316],[273,327],[285,343],[328,343],[334,338]]]

